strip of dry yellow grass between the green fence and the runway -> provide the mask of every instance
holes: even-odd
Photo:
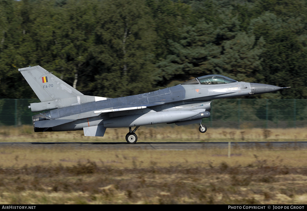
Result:
[[[68,132],[37,132],[33,126],[20,127],[0,126],[1,142],[125,142],[127,128],[107,128],[103,137],[84,136],[83,131]],[[208,128],[207,132],[200,133],[198,126],[185,125],[158,125],[143,126],[137,130],[138,142],[216,142],[216,141],[305,141],[306,128],[277,128],[277,129],[230,129]]]

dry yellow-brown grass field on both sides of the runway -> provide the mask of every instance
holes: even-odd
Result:
[[[201,134],[195,127],[177,128],[140,128],[138,136],[148,142],[235,142],[300,141],[307,134],[304,129],[210,129]],[[107,132],[107,136],[96,138],[83,137],[83,132],[34,134],[27,126],[0,127],[0,139],[124,141],[126,129]],[[306,159],[306,149],[300,148],[234,147],[228,158],[227,149],[1,146],[0,204],[306,204]]]

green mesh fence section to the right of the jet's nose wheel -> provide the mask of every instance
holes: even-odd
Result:
[[[219,99],[211,103],[210,127],[307,127],[307,99]]]

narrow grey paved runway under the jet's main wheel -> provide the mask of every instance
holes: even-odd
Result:
[[[226,149],[228,142],[4,142],[0,149],[12,148],[72,148],[78,150],[206,150]],[[299,142],[231,142],[231,148],[238,149],[307,149],[307,141]]]

